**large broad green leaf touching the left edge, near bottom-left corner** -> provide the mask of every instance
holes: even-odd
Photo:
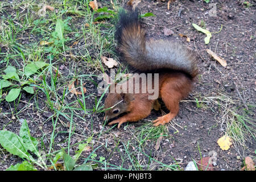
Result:
[[[0,144],[13,155],[20,158],[30,159],[27,155],[27,148],[22,142],[22,138],[11,131],[0,130]]]

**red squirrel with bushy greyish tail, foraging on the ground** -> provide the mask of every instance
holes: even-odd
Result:
[[[187,47],[170,40],[146,40],[146,31],[141,26],[138,9],[119,11],[115,38],[125,61],[143,73],[159,73],[159,98],[162,98],[170,113],[153,121],[154,126],[170,122],[179,112],[179,101],[188,96],[198,74],[196,56]],[[141,81],[140,81],[141,82]],[[127,84],[125,82],[125,84]],[[129,87],[129,85],[128,85]],[[141,87],[139,88],[141,91]],[[108,125],[138,121],[150,115],[155,100],[146,93],[109,93],[105,100],[105,119]]]

